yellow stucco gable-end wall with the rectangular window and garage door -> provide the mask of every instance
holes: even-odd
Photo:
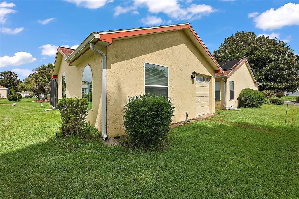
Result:
[[[114,41],[107,47],[107,132],[123,134],[123,105],[144,93],[144,62],[169,67],[173,122],[195,117],[195,84],[191,74],[210,76],[210,113],[215,111],[214,69],[183,31]]]

